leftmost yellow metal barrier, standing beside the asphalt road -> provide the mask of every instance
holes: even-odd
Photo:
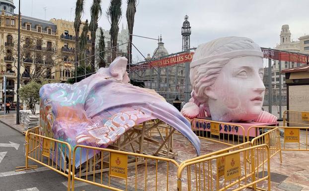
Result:
[[[35,133],[34,133],[35,132]],[[49,138],[40,134],[39,127],[26,131],[25,136],[25,165],[16,171],[23,171],[37,168],[37,166],[28,165],[32,160],[40,165],[68,178],[68,191],[71,191],[71,146],[69,143],[57,139]],[[64,158],[63,158],[64,157]]]

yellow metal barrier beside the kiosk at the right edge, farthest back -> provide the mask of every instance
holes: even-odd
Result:
[[[286,110],[283,112],[283,126],[309,127],[309,112]]]

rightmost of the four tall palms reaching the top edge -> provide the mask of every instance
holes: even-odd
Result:
[[[134,16],[136,12],[137,0],[127,0],[127,22],[129,29],[129,49],[128,49],[128,63],[132,63],[132,35],[133,34],[133,26],[134,26]]]

